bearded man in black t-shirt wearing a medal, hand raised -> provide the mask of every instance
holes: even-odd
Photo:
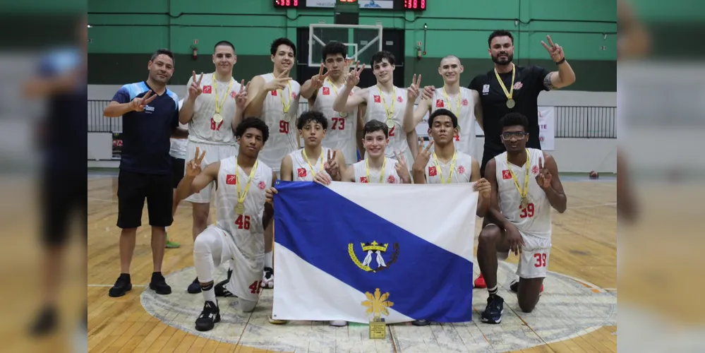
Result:
[[[514,37],[506,30],[495,30],[488,39],[488,52],[495,67],[486,74],[476,76],[468,87],[479,93],[482,102],[485,145],[480,170],[483,177],[487,162],[505,151],[500,140],[499,122],[502,116],[519,112],[529,118],[529,143],[526,147],[541,149],[538,141],[538,94],[542,90],[563,88],[575,82],[575,73],[565,61],[562,47],[554,44],[550,36],[546,38],[548,44],[543,41],[541,44],[558,66],[558,71],[551,72],[533,65],[514,65]]]

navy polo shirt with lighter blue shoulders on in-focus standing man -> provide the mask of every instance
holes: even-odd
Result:
[[[146,81],[123,85],[113,100],[131,102],[135,97],[143,97],[148,90],[151,88]],[[154,90],[152,95],[155,95]],[[133,111],[123,115],[120,169],[135,173],[170,174],[169,138],[177,126],[179,97],[169,89],[147,104],[143,112]]]

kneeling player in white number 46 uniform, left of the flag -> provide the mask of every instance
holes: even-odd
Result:
[[[220,321],[215,299],[213,273],[221,263],[232,261],[234,271],[226,288],[238,298],[239,309],[255,309],[262,284],[264,230],[274,213],[265,203],[265,189],[274,185],[276,176],[258,154],[267,142],[269,129],[258,118],[247,118],[237,126],[239,153],[209,164],[201,171],[206,155],[196,150],[186,166],[186,176],[176,189],[176,202],[215,181],[217,219],[198,234],[193,244],[193,263],[205,304],[195,321],[199,331],[212,330]]]

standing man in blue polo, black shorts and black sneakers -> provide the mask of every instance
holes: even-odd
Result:
[[[179,127],[179,97],[167,89],[174,74],[174,54],[159,49],[147,64],[147,80],[123,85],[105,107],[104,116],[122,116],[123,148],[118,178],[118,221],[121,274],[109,290],[110,297],[122,297],[132,289],[130,263],[135,251],[137,228],[142,225],[142,211],[147,212],[152,227],[154,272],[150,289],[170,294],[162,275],[162,259],[167,240],[165,227],[173,221],[171,206],[171,157],[169,138],[186,138]]]

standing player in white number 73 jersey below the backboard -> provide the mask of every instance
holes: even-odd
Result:
[[[329,131],[323,138],[323,147],[341,150],[347,164],[357,162],[356,132],[358,128],[359,107],[345,112],[333,110],[333,102],[338,93],[343,90],[345,76],[351,60],[346,59],[347,46],[341,42],[330,42],[323,47],[321,56],[323,65],[318,75],[313,76],[301,86],[301,97],[308,100],[311,110],[322,112],[328,119]],[[323,67],[327,69],[323,73]],[[358,87],[352,88],[349,95],[354,94]]]

